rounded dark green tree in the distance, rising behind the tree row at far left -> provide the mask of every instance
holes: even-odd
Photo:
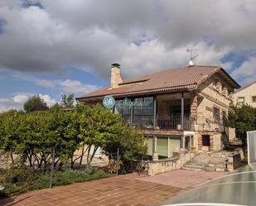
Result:
[[[26,103],[24,103],[24,110],[27,113],[31,113],[34,111],[45,111],[48,110],[47,104],[43,98],[41,98],[38,94],[29,98]]]

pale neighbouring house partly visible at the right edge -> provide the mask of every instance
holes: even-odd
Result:
[[[247,103],[256,108],[256,81],[234,93],[234,104]]]

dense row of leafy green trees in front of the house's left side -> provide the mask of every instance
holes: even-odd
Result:
[[[60,106],[31,113],[10,111],[0,114],[0,149],[20,156],[23,165],[27,162],[31,168],[47,170],[53,151],[54,165],[61,167],[70,161],[73,167],[76,160],[82,163],[85,154],[90,165],[98,148],[108,153],[119,148],[128,169],[134,159],[146,155],[146,147],[142,133],[120,120],[118,114],[100,105],[88,108],[77,104],[70,111]],[[78,149],[82,149],[81,155],[74,157]]]

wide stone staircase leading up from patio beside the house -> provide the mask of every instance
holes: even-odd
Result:
[[[221,152],[199,152],[182,166],[183,170],[226,171],[228,156]]]

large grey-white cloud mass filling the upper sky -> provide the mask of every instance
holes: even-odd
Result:
[[[1,2],[0,18],[7,24],[0,35],[0,67],[51,73],[71,65],[93,68],[106,79],[109,65],[116,61],[123,65],[125,77],[131,77],[187,65],[190,47],[197,49],[200,65],[222,65],[220,60],[230,52],[256,49],[254,1],[41,0],[41,4],[45,9]],[[41,79],[38,84],[64,83]],[[64,88],[69,90],[67,84]]]

